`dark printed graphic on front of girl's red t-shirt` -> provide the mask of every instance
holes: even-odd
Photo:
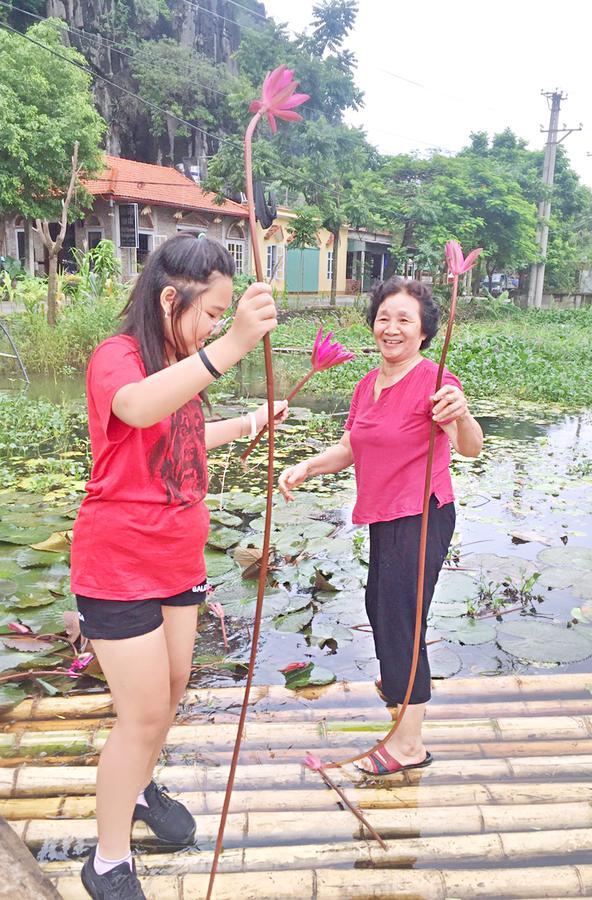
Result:
[[[201,403],[191,400],[171,416],[168,437],[156,442],[150,454],[150,472],[159,474],[167,502],[185,506],[202,500],[207,492],[205,424]]]

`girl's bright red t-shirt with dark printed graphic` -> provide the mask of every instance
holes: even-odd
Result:
[[[73,593],[105,600],[171,597],[206,576],[209,511],[198,397],[150,428],[113,414],[113,397],[146,370],[134,338],[100,344],[87,371],[90,481],[74,524]]]

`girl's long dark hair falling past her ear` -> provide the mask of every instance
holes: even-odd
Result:
[[[187,356],[187,347],[176,325],[184,310],[207,289],[210,277],[234,275],[234,260],[218,241],[197,237],[191,232],[177,234],[154,250],[142,269],[122,312],[121,334],[136,338],[146,374],[166,366],[165,336],[160,295],[172,285],[176,301],[171,311],[171,328],[178,359]]]

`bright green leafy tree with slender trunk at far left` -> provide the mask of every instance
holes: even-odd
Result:
[[[77,51],[63,46],[55,20],[33,25],[27,35],[61,57],[85,63]],[[76,172],[92,175],[101,169],[104,129],[86,72],[21,35],[0,31],[0,213],[38,220],[49,252],[50,324],[56,317],[57,252],[47,243],[48,223],[62,220],[64,198],[70,221],[90,206],[81,185],[68,199],[72,156],[76,147]]]

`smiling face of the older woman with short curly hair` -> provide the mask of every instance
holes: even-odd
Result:
[[[419,300],[405,291],[387,297],[380,304],[373,330],[385,362],[406,362],[419,353],[425,338],[420,310]]]

